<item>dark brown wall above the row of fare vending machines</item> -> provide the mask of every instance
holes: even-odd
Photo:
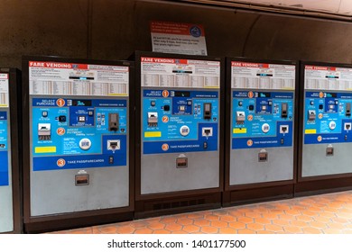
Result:
[[[152,50],[149,21],[203,24],[208,55],[352,63],[352,23],[134,0],[2,0],[0,66],[22,55],[125,59]]]

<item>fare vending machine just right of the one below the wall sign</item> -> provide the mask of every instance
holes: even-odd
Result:
[[[293,196],[297,72],[294,61],[227,58],[225,205]]]

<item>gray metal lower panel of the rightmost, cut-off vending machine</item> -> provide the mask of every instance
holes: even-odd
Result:
[[[328,144],[305,144],[302,149],[302,177],[352,173],[351,143],[331,144],[334,156],[326,156]]]

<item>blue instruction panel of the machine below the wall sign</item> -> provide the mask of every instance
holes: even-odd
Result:
[[[144,154],[218,150],[218,92],[144,90],[143,108]]]

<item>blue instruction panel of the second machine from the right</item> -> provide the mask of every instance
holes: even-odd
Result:
[[[292,146],[292,92],[233,92],[232,148]]]

